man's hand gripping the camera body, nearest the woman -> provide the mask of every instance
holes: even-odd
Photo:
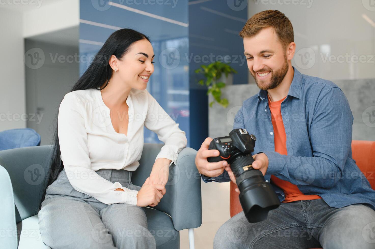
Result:
[[[228,163],[223,160],[216,163],[209,163],[207,161],[208,157],[217,157],[220,152],[217,149],[208,149],[212,139],[207,137],[202,143],[201,148],[198,150],[198,153],[195,157],[195,165],[199,173],[204,174],[208,177],[219,176],[224,172],[224,168]]]

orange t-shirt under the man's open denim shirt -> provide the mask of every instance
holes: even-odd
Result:
[[[286,96],[278,101],[270,101],[268,97],[268,104],[272,116],[273,135],[275,136],[275,151],[281,155],[287,155],[287,134],[285,134],[284,122],[281,116],[281,102]],[[297,185],[291,182],[281,180],[276,176],[271,176],[273,184],[281,188],[285,193],[285,200],[283,202],[300,201],[300,200],[315,200],[320,199],[319,195],[305,195]]]

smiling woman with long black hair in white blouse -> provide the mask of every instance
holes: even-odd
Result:
[[[142,207],[159,203],[168,167],[187,140],[146,90],[153,59],[148,37],[117,30],[62,100],[39,211],[40,233],[51,248],[156,248]],[[131,175],[144,126],[165,145],[140,187]]]

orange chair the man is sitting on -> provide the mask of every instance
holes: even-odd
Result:
[[[375,169],[375,160],[371,157],[371,155],[375,155],[375,141],[353,140],[352,155],[353,159],[356,160],[357,166],[369,180],[372,189],[375,189],[375,175],[372,174]],[[231,182],[229,195],[229,213],[231,217],[242,211],[239,194],[234,190],[236,188],[237,185]]]

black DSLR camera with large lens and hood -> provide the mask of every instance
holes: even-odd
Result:
[[[226,160],[236,177],[240,190],[240,203],[249,222],[260,222],[267,219],[268,212],[280,205],[279,198],[270,183],[264,180],[260,170],[251,167],[254,159],[255,141],[253,134],[246,129],[234,129],[229,136],[217,137],[208,149],[217,149],[220,155],[209,157],[209,162]]]

